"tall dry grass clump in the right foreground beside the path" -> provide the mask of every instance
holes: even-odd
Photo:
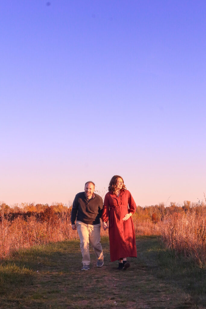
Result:
[[[200,266],[206,265],[206,209],[165,216],[160,222],[167,248],[183,254]]]

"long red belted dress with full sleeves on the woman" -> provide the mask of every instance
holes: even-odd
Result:
[[[129,208],[128,208],[129,205]],[[104,198],[102,221],[109,220],[109,246],[111,262],[123,257],[137,257],[132,217],[123,221],[125,214],[136,211],[136,204],[128,190],[120,190],[119,197],[107,192]]]

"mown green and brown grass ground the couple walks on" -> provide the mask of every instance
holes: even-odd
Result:
[[[81,271],[79,240],[17,252],[0,265],[0,308],[205,308],[205,269],[175,257],[156,237],[137,239],[138,257],[118,271],[102,239],[104,265]]]

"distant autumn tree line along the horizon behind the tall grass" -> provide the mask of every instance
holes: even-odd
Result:
[[[65,216],[70,217],[72,209],[72,203],[53,203],[48,204],[34,204],[34,203],[21,203],[9,206],[6,203],[0,202],[0,218],[5,218],[9,221],[13,221],[18,216],[24,218],[35,216],[40,221],[51,220],[52,218]],[[136,213],[133,215],[134,219],[141,221],[151,221],[157,223],[163,220],[167,215],[201,212],[205,209],[204,201],[198,201],[197,203],[191,203],[191,201],[184,201],[183,205],[178,205],[176,202],[170,202],[170,205],[166,206],[164,203],[159,203],[151,206],[137,206]]]

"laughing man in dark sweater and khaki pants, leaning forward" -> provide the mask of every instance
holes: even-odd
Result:
[[[103,200],[94,191],[94,182],[87,181],[84,192],[80,192],[75,196],[71,212],[72,229],[78,231],[80,238],[82,270],[90,269],[89,243],[97,256],[97,267],[102,267],[104,264],[102,245],[100,243],[100,217],[102,215]]]

